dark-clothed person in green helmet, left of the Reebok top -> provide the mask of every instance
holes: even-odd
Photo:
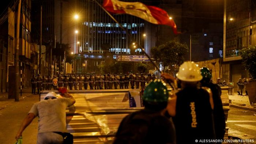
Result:
[[[143,94],[145,109],[122,120],[113,144],[175,144],[172,121],[164,116],[168,96],[160,80],[151,82]]]

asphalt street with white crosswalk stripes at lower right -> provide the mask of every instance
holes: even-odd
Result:
[[[229,136],[253,139],[256,144],[256,112],[230,107],[227,126]]]

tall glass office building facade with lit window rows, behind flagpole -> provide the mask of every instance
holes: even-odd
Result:
[[[135,52],[132,42],[144,45],[144,20],[131,15],[114,14],[113,17],[126,32],[93,1],[79,0],[78,5],[82,16],[78,41],[83,53],[102,53],[108,50],[113,54],[130,54]],[[129,38],[127,33],[132,37]]]

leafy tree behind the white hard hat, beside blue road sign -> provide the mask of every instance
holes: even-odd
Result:
[[[167,66],[173,72],[184,61],[184,56],[188,52],[188,46],[176,41],[169,41],[166,44],[151,49],[155,61],[162,63],[163,71]]]

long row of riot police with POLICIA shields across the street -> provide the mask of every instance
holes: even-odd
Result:
[[[102,90],[102,89],[127,89],[127,88],[145,88],[146,83],[150,80],[155,80],[155,75],[147,74],[145,77],[143,73],[133,75],[59,75],[58,77],[38,75],[31,79],[32,94],[41,90],[57,90],[58,87],[65,87],[69,90]]]

